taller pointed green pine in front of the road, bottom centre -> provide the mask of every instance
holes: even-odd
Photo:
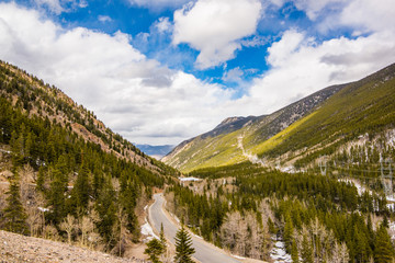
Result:
[[[176,233],[176,263],[192,263],[192,254],[195,252],[192,248],[192,238],[182,225]]]

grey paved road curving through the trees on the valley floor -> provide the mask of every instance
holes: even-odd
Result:
[[[162,194],[154,195],[155,203],[149,207],[149,220],[154,225],[158,232],[160,230],[160,224],[163,224],[165,236],[172,243],[174,243],[176,232],[178,230],[178,226],[171,221],[168,216],[162,210],[162,206],[165,203],[165,198]],[[240,263],[238,261],[219,249],[213,248],[213,244],[208,244],[203,239],[196,238],[192,236],[193,248],[195,249],[195,253],[193,256],[202,263]]]

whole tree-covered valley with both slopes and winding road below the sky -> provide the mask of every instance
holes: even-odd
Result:
[[[181,226],[202,263],[393,259],[393,65],[227,118],[167,164],[55,87],[8,64],[0,72],[1,229],[129,262],[148,259],[161,224],[161,262]]]

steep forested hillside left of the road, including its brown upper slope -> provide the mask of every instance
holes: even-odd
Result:
[[[0,228],[123,254],[178,172],[55,87],[0,65]]]

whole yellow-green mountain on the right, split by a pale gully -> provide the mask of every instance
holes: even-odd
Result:
[[[393,128],[395,66],[360,81],[320,90],[280,111],[228,118],[215,129],[177,146],[162,161],[189,172],[239,163],[308,165],[366,133]]]

